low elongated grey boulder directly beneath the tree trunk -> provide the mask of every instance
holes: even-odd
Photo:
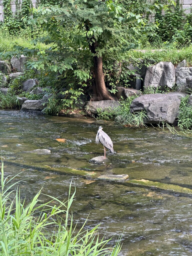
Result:
[[[102,111],[110,111],[118,108],[119,105],[119,101],[115,100],[89,101],[86,105],[86,111],[91,114],[97,114],[97,109],[99,108],[101,108]]]

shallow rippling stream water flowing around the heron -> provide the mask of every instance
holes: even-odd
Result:
[[[5,174],[25,170],[18,176],[24,179],[20,183],[23,197],[30,199],[43,186],[43,193],[64,199],[73,179],[77,190],[73,218],[81,225],[89,215],[87,227],[101,223],[100,233],[113,236],[111,243],[123,233],[123,255],[192,255],[190,195],[89,176],[129,174],[130,179],[192,188],[191,139],[153,128],[136,130],[106,123],[103,130],[116,153],[99,165],[89,162],[103,155],[102,145],[95,144],[100,124],[94,120],[2,110],[0,122]],[[26,152],[36,149],[51,153]]]

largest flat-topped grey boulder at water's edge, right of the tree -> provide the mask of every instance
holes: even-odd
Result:
[[[180,99],[174,94],[145,94],[132,101],[130,111],[146,111],[145,123],[173,124],[179,112],[179,105]]]

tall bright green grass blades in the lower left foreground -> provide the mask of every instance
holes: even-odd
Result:
[[[47,196],[39,200],[41,191],[27,204],[22,200],[15,177],[4,178],[3,162],[0,185],[0,255],[43,256],[117,256],[120,242],[109,247],[110,239],[99,237],[97,225],[86,229],[86,222],[77,230],[70,206],[75,191],[65,201]],[[16,188],[15,188],[16,187]],[[15,189],[14,189],[15,188]],[[26,195],[27,196],[27,195]]]

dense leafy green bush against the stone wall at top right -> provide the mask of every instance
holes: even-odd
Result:
[[[157,0],[157,2],[159,2]],[[192,14],[186,15],[182,9],[179,0],[175,5],[169,5],[163,10],[156,8],[155,22],[148,23],[143,36],[145,40],[153,46],[162,46],[162,44],[170,44],[176,42],[178,47],[188,45],[192,39]]]

